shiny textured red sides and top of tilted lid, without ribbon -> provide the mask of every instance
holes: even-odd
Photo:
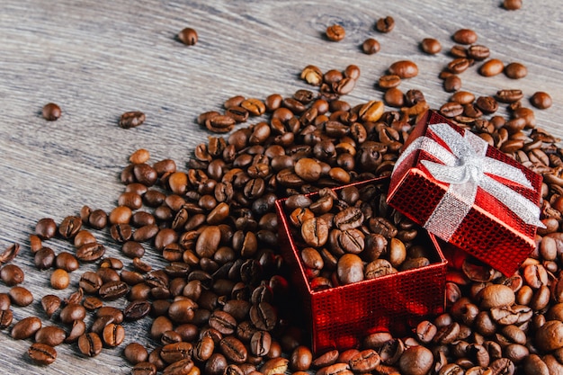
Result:
[[[437,143],[444,146],[442,138],[429,129],[430,125],[440,123],[450,125],[461,135],[465,134],[464,129],[452,124],[439,113],[429,111],[425,113],[407,139],[403,152],[417,138],[422,137],[436,140]],[[445,147],[448,148],[447,145]],[[505,184],[515,193],[531,201],[537,208],[541,198],[541,175],[533,173],[494,147],[487,147],[486,156],[509,165],[507,168],[512,166],[523,173],[532,188],[523,187],[521,184],[498,175],[487,174],[487,176]],[[437,210],[437,206],[441,204],[442,197],[451,184],[433,178],[433,174],[425,167],[424,161],[439,163],[431,153],[419,149],[409,154],[404,159],[404,163],[396,165],[396,169],[391,175],[388,203],[405,214],[407,218],[428,228],[425,223],[434,215],[434,210]],[[475,256],[480,261],[510,276],[535,248],[534,237],[537,227],[524,222],[506,206],[506,203],[512,202],[511,200],[499,201],[479,185],[475,201],[451,237],[444,238],[433,229],[428,229],[437,237],[442,237],[451,245],[460,247],[467,254]],[[444,222],[448,221],[448,216],[450,215],[442,215]]]

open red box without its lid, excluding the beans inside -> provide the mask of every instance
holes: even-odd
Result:
[[[389,177],[351,185],[361,188],[382,182],[387,187]],[[333,190],[338,192],[344,187]],[[314,200],[318,194],[308,195]],[[281,255],[303,301],[315,353],[357,348],[366,335],[382,330],[407,335],[424,318],[444,311],[446,260],[436,238],[422,228],[419,237],[427,237],[429,265],[326,290],[312,290],[299,256],[300,249],[306,246],[292,232],[285,201],[275,202],[280,219]]]

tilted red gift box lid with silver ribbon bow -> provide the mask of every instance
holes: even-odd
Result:
[[[541,175],[426,112],[391,174],[388,203],[506,276],[535,248]]]

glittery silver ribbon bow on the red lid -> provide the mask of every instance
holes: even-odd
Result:
[[[487,142],[470,131],[466,130],[462,136],[445,123],[430,125],[429,129],[441,138],[451,151],[432,138],[418,137],[398,157],[393,171],[396,173],[405,159],[418,149],[424,150],[442,162],[440,164],[429,160],[421,161],[434,179],[442,183],[450,183],[442,200],[424,223],[424,228],[446,241],[450,240],[471,210],[478,187],[503,202],[526,224],[545,228],[539,219],[538,205],[487,175],[496,175],[533,189],[532,183],[520,169],[487,157]]]

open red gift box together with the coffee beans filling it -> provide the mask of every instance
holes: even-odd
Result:
[[[319,353],[405,334],[442,313],[446,262],[435,238],[386,203],[389,178],[276,201],[281,251]]]

